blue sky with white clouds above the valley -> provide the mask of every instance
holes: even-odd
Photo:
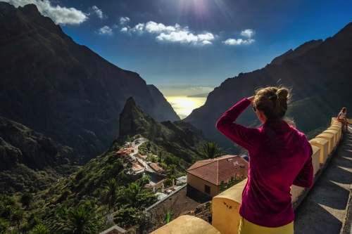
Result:
[[[352,22],[351,0],[6,1],[37,4],[78,44],[139,73],[166,96],[170,87],[219,86]]]

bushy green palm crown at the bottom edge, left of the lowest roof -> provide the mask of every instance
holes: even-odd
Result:
[[[98,231],[99,221],[92,207],[80,205],[58,214],[54,233],[58,234],[95,234]]]

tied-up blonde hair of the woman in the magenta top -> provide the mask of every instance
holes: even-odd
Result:
[[[290,92],[284,86],[257,89],[253,106],[262,110],[268,119],[282,119],[287,112]]]

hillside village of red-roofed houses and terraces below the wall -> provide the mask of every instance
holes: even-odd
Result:
[[[172,178],[172,186],[165,186],[164,182],[168,174],[158,164],[158,155],[153,155],[151,152],[142,154],[142,150],[139,150],[139,147],[146,142],[148,140],[145,138],[137,138],[125,143],[125,147],[118,150],[116,154],[125,162],[127,174],[151,178],[145,188],[151,189],[158,197],[158,201],[147,207],[145,212],[154,220],[164,220],[165,214],[169,215],[169,219],[187,214],[211,223],[213,197],[243,181],[248,175],[248,156],[223,155],[195,162],[187,169],[186,175]],[[161,223],[163,223],[162,220]],[[113,226],[103,233],[125,233],[125,230]]]

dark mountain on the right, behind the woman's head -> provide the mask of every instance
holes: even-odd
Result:
[[[294,103],[289,106],[287,115],[294,117],[298,130],[308,133],[327,126],[341,107],[352,105],[351,41],[352,23],[349,23],[334,37],[301,56],[226,79],[209,93],[201,108],[193,110],[183,120],[203,130],[206,137],[231,147],[233,143],[215,129],[219,117],[242,98],[253,96],[258,87],[284,84],[294,93]],[[239,123],[247,126],[256,123],[257,117],[250,109],[239,117]]]

